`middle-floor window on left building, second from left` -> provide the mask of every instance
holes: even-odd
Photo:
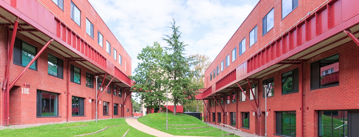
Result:
[[[47,55],[47,74],[64,78],[64,61],[60,58],[55,57],[54,55]]]

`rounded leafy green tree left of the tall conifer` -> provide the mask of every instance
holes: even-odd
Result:
[[[137,97],[141,98],[141,103],[147,108],[160,108],[165,101],[165,88],[161,85],[168,80],[164,76],[163,63],[165,52],[159,43],[147,46],[137,55],[141,60],[135,69],[135,75],[131,76],[135,81],[131,87],[133,92],[138,92]]]

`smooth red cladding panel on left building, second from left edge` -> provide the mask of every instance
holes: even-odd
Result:
[[[16,8],[24,15],[38,23],[38,3],[36,0],[17,0]]]

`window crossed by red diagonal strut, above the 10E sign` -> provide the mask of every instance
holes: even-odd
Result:
[[[22,41],[18,38],[15,39],[13,50],[13,62],[14,64],[26,67],[36,55],[36,47]],[[37,70],[37,60],[32,63],[30,69]]]

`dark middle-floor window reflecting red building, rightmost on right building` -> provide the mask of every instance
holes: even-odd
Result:
[[[339,85],[339,54],[311,63],[311,90]]]

